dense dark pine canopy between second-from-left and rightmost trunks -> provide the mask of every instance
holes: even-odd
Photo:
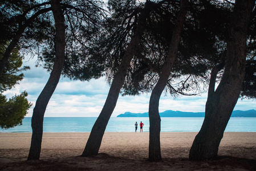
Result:
[[[125,79],[122,95],[151,92],[155,87],[168,55],[178,5],[177,2],[162,1],[152,11],[147,22],[147,32],[140,44],[140,51],[133,59]],[[209,70],[222,61],[222,54],[225,52],[224,35],[227,34],[225,24],[229,19],[230,11],[214,8],[208,3],[207,5],[204,6],[201,2],[190,3],[177,59],[166,84],[166,92],[169,91],[173,96],[185,95],[189,91],[197,93],[205,91]],[[212,21],[209,21],[208,17],[213,17],[213,13],[221,11],[224,11],[226,17],[221,18],[217,15],[216,21],[213,22],[214,26],[210,26],[209,22]],[[202,82],[204,84],[201,84]]]

